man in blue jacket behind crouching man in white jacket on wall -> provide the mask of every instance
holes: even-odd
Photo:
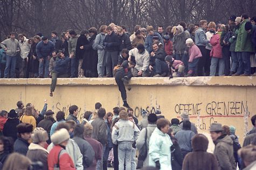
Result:
[[[148,53],[150,54],[151,52],[153,52],[153,48],[152,48],[153,42],[157,42],[157,43],[161,42],[162,44],[164,44],[164,42],[160,34],[157,32],[154,32],[153,26],[147,26],[147,32],[148,32],[148,36],[146,37],[144,46],[148,51]]]

